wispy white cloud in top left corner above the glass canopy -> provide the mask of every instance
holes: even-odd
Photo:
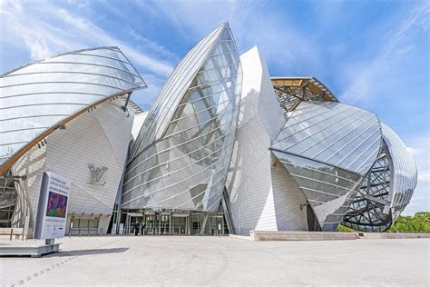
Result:
[[[28,3],[23,7],[19,2],[8,2],[2,6],[2,14],[5,15],[2,22],[10,29],[7,41],[23,41],[33,60],[68,50],[114,45],[122,48],[133,64],[153,74],[166,77],[173,69],[171,64],[161,58],[136,50],[112,37],[90,20],[73,15],[54,4]],[[154,47],[156,45],[151,43],[151,49]]]

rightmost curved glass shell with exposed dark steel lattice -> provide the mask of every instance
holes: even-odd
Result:
[[[376,163],[349,207],[343,224],[385,232],[410,202],[417,183],[415,162],[396,133],[381,123],[383,144]]]

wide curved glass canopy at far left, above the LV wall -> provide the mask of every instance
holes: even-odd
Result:
[[[112,94],[145,87],[115,47],[70,52],[0,77],[0,164],[55,123]]]

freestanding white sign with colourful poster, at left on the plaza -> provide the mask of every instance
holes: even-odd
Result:
[[[34,228],[35,239],[64,237],[71,182],[52,172],[44,172]]]

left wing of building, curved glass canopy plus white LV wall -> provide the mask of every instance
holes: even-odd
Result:
[[[34,227],[42,173],[72,183],[67,228],[106,233],[146,87],[115,47],[59,54],[0,79],[2,226]],[[1,186],[0,185],[0,186]],[[68,231],[67,231],[68,232]]]

